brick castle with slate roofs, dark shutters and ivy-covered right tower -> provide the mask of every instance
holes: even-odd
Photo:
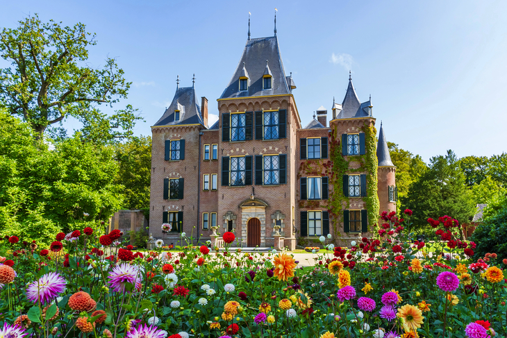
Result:
[[[184,232],[206,242],[217,227],[234,231],[234,245],[293,250],[321,235],[336,244],[369,235],[379,211],[396,210],[396,168],[382,126],[376,142],[371,98],[361,103],[349,76],[329,125],[321,106],[303,127],[295,89],[276,28],[272,37],[249,32],[213,126],[208,99],[199,105],[194,85],[178,83],[151,127],[153,237],[176,245]],[[172,230],[163,233],[163,223]]]

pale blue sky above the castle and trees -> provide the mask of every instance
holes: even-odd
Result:
[[[372,94],[389,141],[426,161],[506,150],[507,1],[6,1],[0,27],[37,12],[43,21],[82,22],[97,33],[90,65],[106,56],[133,85],[128,99],[151,135],[176,89],[216,99],[247,40],[277,35],[302,124],[320,105],[341,103],[349,69],[360,101]],[[0,62],[0,67],[5,67]],[[107,110],[106,110],[107,111]],[[328,116],[329,119],[329,116]],[[78,125],[72,121],[67,126]]]

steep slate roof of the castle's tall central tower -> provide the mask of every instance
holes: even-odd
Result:
[[[239,80],[243,62],[249,74],[249,87],[248,90],[240,92]],[[265,71],[270,72],[273,76],[272,89],[269,90],[263,90]],[[220,99],[279,94],[290,94],[290,89],[288,80],[285,78],[278,38],[272,36],[247,40],[238,67],[236,67],[233,77]]]

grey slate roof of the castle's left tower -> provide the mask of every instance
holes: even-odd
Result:
[[[155,126],[174,126],[176,124],[202,124],[201,107],[197,104],[194,87],[178,87],[169,108],[156,122]],[[180,120],[174,121],[174,110],[180,110]]]

